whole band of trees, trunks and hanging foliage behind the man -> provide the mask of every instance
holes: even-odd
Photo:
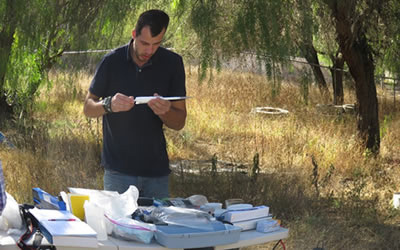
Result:
[[[171,16],[164,45],[199,59],[199,75],[243,52],[257,55],[279,94],[279,66],[291,56],[310,63],[321,95],[343,104],[343,71],[357,96],[358,130],[379,152],[377,74],[400,73],[398,0],[4,0],[0,2],[0,122],[30,115],[47,74],[66,50],[121,44],[138,14],[160,8]],[[318,65],[332,70],[332,93]]]

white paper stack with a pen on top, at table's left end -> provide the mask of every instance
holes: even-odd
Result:
[[[30,209],[39,229],[55,246],[97,248],[96,232],[85,222],[66,210]]]

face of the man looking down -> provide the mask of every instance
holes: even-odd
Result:
[[[143,66],[157,51],[165,34],[165,29],[155,37],[151,36],[150,27],[145,26],[140,35],[136,35],[136,31],[132,31],[133,41],[133,60],[139,66]]]

